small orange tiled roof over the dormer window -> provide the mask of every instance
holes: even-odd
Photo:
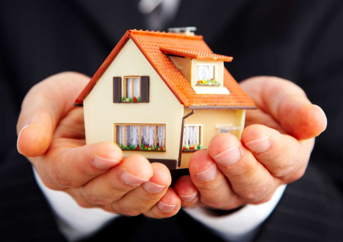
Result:
[[[166,47],[159,47],[159,49],[167,54],[189,57],[189,58],[197,59],[197,60],[217,60],[217,61],[227,61],[227,62],[232,61],[231,56],[223,56],[223,55],[218,55],[211,52],[203,52],[199,50],[166,48]]]

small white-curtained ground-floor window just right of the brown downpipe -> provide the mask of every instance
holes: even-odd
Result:
[[[183,151],[203,149],[203,124],[185,124]]]

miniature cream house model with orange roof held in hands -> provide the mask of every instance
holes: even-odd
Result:
[[[194,33],[129,30],[75,100],[86,143],[118,144],[169,169],[187,168],[192,152],[229,132],[240,138],[245,109],[256,108]]]

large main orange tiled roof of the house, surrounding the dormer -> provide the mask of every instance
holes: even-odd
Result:
[[[240,88],[226,68],[224,68],[224,86],[227,87],[230,94],[197,94],[169,57],[160,50],[161,47],[164,50],[175,48],[185,51],[188,50],[190,53],[193,50],[197,50],[197,53],[208,53],[209,56],[214,56],[215,54],[206,45],[201,35],[185,36],[176,33],[142,31],[137,29],[127,31],[120,39],[116,47],[111,51],[110,55],[75,100],[76,105],[82,104],[83,99],[90,93],[96,82],[129,38],[133,40],[158,75],[169,87],[170,91],[185,107],[190,109],[256,108],[254,102]]]

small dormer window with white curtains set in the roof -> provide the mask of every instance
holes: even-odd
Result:
[[[216,80],[216,64],[197,65],[197,86],[220,86]]]

